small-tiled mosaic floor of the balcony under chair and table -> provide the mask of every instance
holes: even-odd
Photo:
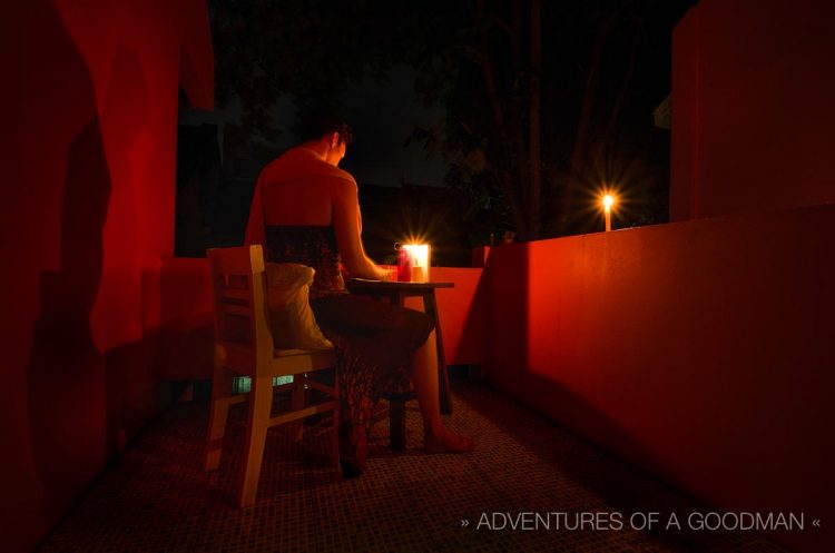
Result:
[[[342,480],[325,456],[326,434],[302,443],[271,431],[255,505],[233,505],[245,406],[230,413],[220,467],[200,466],[208,405],[175,405],[153,425],[45,540],[49,552],[778,552],[744,532],[632,530],[632,513],[706,511],[561,427],[484,387],[455,382],[449,424],[477,440],[466,455],[426,455],[416,404],[409,442],[389,450],[385,412],[373,429],[369,464]],[[384,407],[382,402],[381,406]],[[511,517],[537,530],[510,529]],[[557,530],[548,513],[621,513],[622,529]],[[482,517],[487,513],[487,521]],[[493,513],[499,513],[497,517]],[[525,515],[532,516],[532,515]],[[609,515],[617,526],[617,515]],[[665,516],[665,515],[662,515]],[[469,521],[465,526],[462,521]],[[523,520],[518,522],[521,523]],[[493,530],[485,522],[494,524]],[[504,529],[499,529],[502,523]]]

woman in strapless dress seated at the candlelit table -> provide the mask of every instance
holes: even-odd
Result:
[[[365,465],[372,407],[384,389],[414,386],[429,453],[473,450],[473,442],[446,428],[439,403],[438,356],[428,315],[347,293],[340,264],[353,277],[391,280],[363,249],[362,218],[354,178],[337,165],[353,139],[331,112],[302,127],[303,144],[267,165],[253,197],[246,244],[263,244],[267,261],[315,269],[311,307],[336,348],[342,422],[343,474]]]

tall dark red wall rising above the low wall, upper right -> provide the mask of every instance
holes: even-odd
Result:
[[[701,0],[672,34],[670,220],[835,203],[835,3]]]

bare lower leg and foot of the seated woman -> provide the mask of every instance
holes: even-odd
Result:
[[[455,434],[443,425],[438,396],[438,348],[435,333],[418,348],[412,358],[412,384],[423,417],[423,444],[430,453],[469,452],[472,440]]]

